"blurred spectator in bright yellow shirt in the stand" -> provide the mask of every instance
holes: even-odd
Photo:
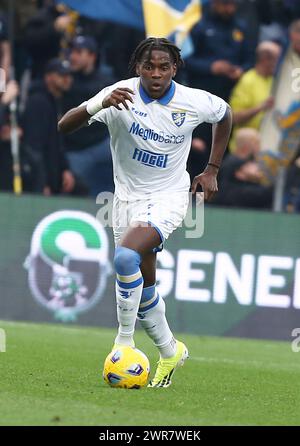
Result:
[[[233,89],[230,105],[233,111],[233,135],[229,144],[235,150],[235,133],[239,128],[259,129],[264,112],[274,106],[271,96],[273,75],[280,56],[280,46],[262,42],[256,48],[256,64],[240,78]]]

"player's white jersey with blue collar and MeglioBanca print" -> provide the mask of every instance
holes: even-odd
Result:
[[[134,103],[127,101],[129,110],[121,104],[122,111],[109,107],[89,120],[89,124],[103,122],[109,129],[118,198],[136,200],[149,193],[188,191],[186,163],[192,132],[202,122],[220,121],[226,102],[174,81],[162,98],[153,100],[139,77],[104,88],[99,100],[118,87],[135,93]]]

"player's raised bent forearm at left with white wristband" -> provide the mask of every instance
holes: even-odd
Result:
[[[107,89],[100,91],[96,96],[89,99],[85,104],[69,110],[58,122],[58,130],[62,133],[71,133],[87,125],[92,116],[108,107],[122,110],[120,104],[128,110],[126,101],[133,102],[130,88],[115,88],[107,94]]]

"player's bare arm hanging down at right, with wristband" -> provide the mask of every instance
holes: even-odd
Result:
[[[192,193],[195,193],[197,186],[200,185],[205,200],[210,200],[218,191],[217,175],[229,141],[231,127],[232,112],[230,106],[227,105],[221,121],[213,124],[212,146],[207,166],[200,175],[195,176],[191,187]]]

